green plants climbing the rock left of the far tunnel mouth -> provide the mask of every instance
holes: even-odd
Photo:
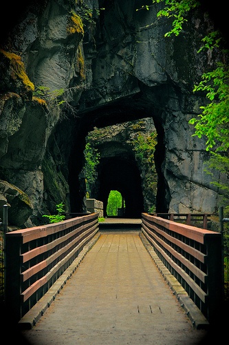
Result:
[[[86,189],[87,197],[89,197],[91,192],[91,186],[96,181],[98,172],[97,166],[100,162],[100,153],[96,148],[92,148],[91,144],[87,142],[84,150],[85,155],[85,177],[86,177]]]

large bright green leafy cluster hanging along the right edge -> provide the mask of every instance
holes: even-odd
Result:
[[[201,106],[202,112],[198,118],[190,119],[189,123],[195,125],[197,137],[206,138],[206,150],[210,151],[210,159],[206,162],[206,172],[212,175],[218,170],[220,175],[229,177],[229,71],[225,63],[217,63],[212,72],[202,75],[202,81],[195,86],[194,92],[206,93],[209,103]],[[219,181],[211,182],[222,193],[221,204],[227,206],[229,199],[229,186]]]

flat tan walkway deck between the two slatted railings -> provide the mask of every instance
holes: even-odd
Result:
[[[138,230],[102,231],[24,344],[206,344]],[[21,343],[23,343],[21,341]]]

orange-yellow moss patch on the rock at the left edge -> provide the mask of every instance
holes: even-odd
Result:
[[[34,84],[30,81],[28,75],[25,72],[25,66],[21,61],[21,57],[14,54],[13,52],[6,52],[3,49],[0,49],[0,54],[2,54],[10,61],[12,79],[21,79],[28,91],[34,91]]]

